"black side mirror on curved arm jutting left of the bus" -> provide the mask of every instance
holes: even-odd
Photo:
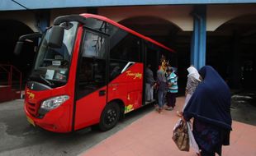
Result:
[[[30,40],[30,39],[38,39],[42,36],[42,34],[40,33],[34,33],[34,34],[25,34],[22,35],[19,40],[17,41],[17,44],[14,48],[14,54],[15,55],[19,55],[21,53],[21,49],[23,47],[23,44],[26,40]]]

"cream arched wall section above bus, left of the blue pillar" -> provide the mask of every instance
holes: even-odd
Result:
[[[135,16],[155,16],[172,22],[181,30],[192,31],[192,6],[149,6],[149,7],[101,7],[98,13],[114,21]]]

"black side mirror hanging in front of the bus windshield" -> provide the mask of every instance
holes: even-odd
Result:
[[[64,27],[55,25],[50,30],[49,47],[61,48],[64,39]]]

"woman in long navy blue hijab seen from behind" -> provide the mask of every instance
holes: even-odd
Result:
[[[183,112],[183,120],[192,117],[193,135],[201,156],[221,155],[222,145],[230,145],[230,89],[210,66],[199,71],[202,77]]]

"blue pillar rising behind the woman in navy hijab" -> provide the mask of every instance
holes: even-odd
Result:
[[[194,7],[194,28],[191,45],[191,64],[197,69],[206,65],[206,6]]]

